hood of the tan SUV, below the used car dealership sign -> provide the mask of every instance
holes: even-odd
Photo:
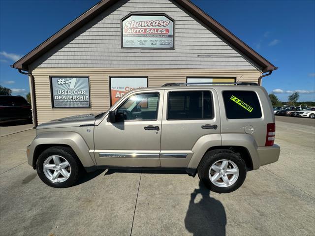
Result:
[[[84,115],[51,120],[47,123],[38,125],[36,129],[89,126],[89,125],[94,125],[94,123],[95,123],[94,114],[84,114]]]

